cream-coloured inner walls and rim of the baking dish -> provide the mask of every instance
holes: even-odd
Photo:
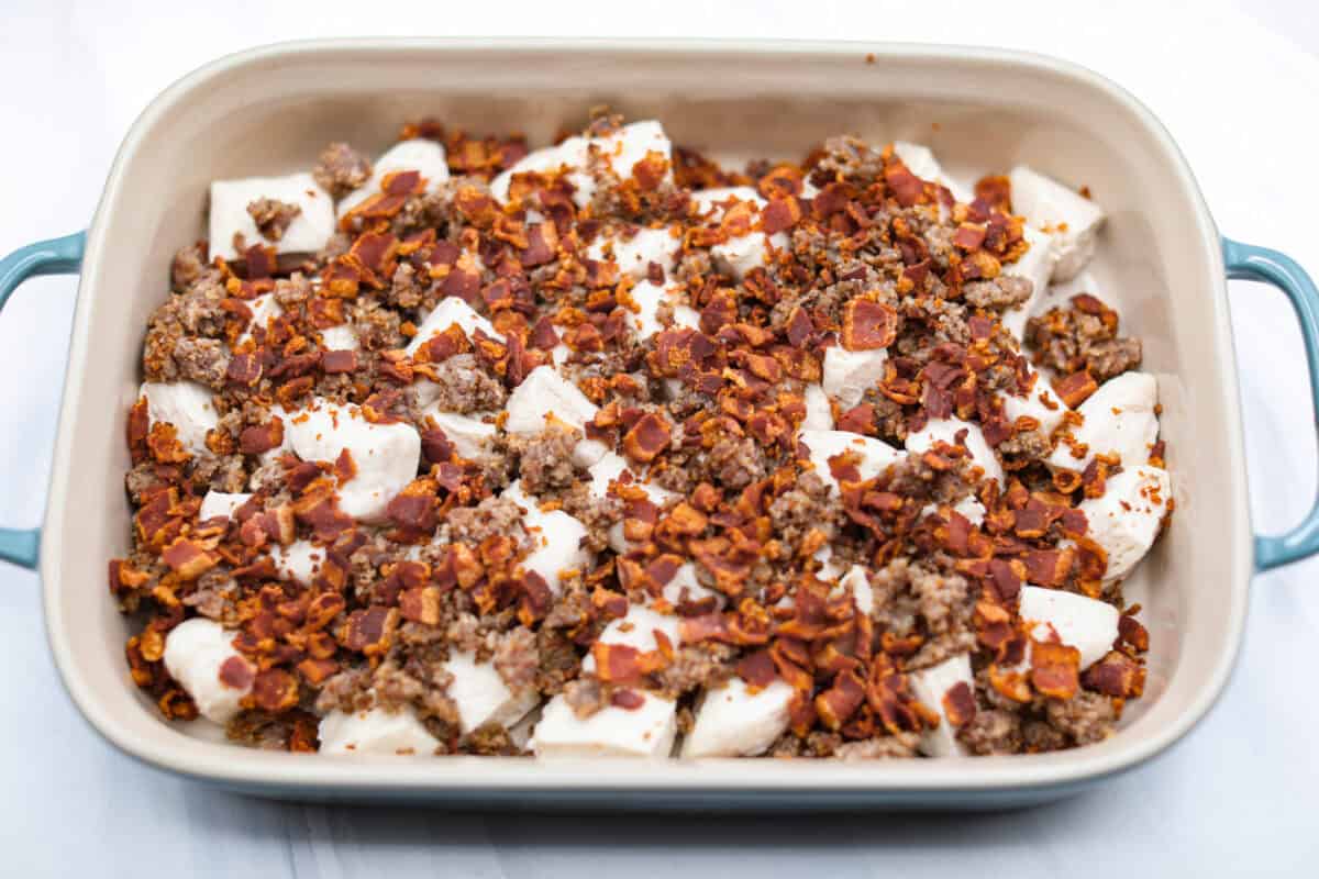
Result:
[[[1124,335],[1145,341],[1144,369],[1159,380],[1177,503],[1170,531],[1126,585],[1150,630],[1146,695],[1116,737],[1083,752],[938,768],[948,762],[881,762],[851,775],[966,781],[1004,762],[1101,767],[1203,710],[1236,651],[1249,525],[1221,262],[1194,182],[1154,123],[1075,71],[933,50],[878,51],[868,62],[867,51],[331,46],[249,54],[171,90],[138,121],[96,215],[45,528],[51,639],[84,712],[148,756],[186,747],[199,759],[307,762],[187,741],[162,721],[128,679],[127,626],[106,589],[104,560],[128,547],[121,438],[140,382],[141,327],[168,294],[174,250],[204,235],[208,183],[309,169],[331,140],[379,152],[398,120],[426,116],[474,133],[522,130],[545,145],[598,104],[661,119],[675,144],[725,163],[799,158],[840,132],[923,142],[966,182],[1026,162],[1088,186],[1109,213],[1089,271]],[[522,767],[529,778],[530,763]],[[762,762],[729,770],[744,780],[802,771]],[[445,760],[427,764],[429,778],[447,772]]]

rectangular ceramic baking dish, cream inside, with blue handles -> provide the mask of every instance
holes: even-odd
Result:
[[[677,142],[723,159],[799,157],[823,137],[918,140],[955,174],[1029,162],[1086,183],[1109,212],[1093,271],[1157,373],[1175,522],[1129,596],[1153,651],[1146,696],[1109,741],[1010,758],[551,762],[315,758],[203,741],[162,721],[132,685],[125,622],[106,560],[128,548],[124,419],[142,327],[166,295],[173,252],[203,233],[212,178],[307,167],[331,140],[385,146],[401,120],[543,144],[588,107],[661,119]],[[1302,319],[1319,373],[1319,294],[1286,257],[1224,241],[1177,145],[1105,79],[1016,53],[867,43],[348,41],[259,49],[161,95],[133,125],[91,229],[0,264],[0,297],[26,275],[80,271],[40,569],[50,647],[70,695],[107,739],[145,763],[227,788],[302,799],[601,808],[987,808],[1060,796],[1137,766],[1213,704],[1241,639],[1256,568],[1308,555],[1312,513],[1252,539],[1227,277],[1272,281]],[[37,567],[36,531],[0,557]]]

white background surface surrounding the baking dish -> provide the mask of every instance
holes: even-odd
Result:
[[[142,107],[193,67],[251,45],[369,34],[802,37],[997,43],[1091,66],[1169,125],[1225,233],[1319,271],[1312,0],[328,5],[0,0],[0,253],[83,228]],[[142,283],[164,295],[164,278]],[[41,517],[74,291],[67,278],[30,282],[0,318],[4,523]],[[1279,294],[1235,285],[1231,299],[1252,511],[1258,528],[1279,531],[1315,494],[1299,333]],[[278,805],[148,770],[77,714],[46,651],[37,579],[5,567],[0,874],[1315,875],[1316,572],[1306,563],[1256,577],[1245,650],[1217,708],[1171,752],[1095,792],[979,816],[630,820]],[[86,588],[88,602],[107,600],[104,584]]]

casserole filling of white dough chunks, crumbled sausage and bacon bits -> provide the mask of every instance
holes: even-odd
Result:
[[[128,414],[133,679],[340,755],[1100,741],[1173,509],[1103,221],[1028,167],[727,170],[608,116],[218,181]]]

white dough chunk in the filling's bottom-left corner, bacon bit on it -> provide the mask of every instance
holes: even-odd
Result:
[[[187,691],[202,717],[216,723],[227,723],[239,713],[239,702],[252,692],[256,677],[256,667],[233,648],[233,634],[212,619],[194,617],[165,637],[170,677]],[[244,680],[245,685],[233,685]]]

